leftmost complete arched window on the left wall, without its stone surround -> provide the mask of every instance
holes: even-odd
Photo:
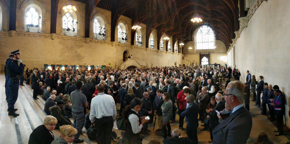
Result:
[[[26,32],[40,33],[41,32],[41,8],[36,4],[30,4],[25,8],[25,26]]]

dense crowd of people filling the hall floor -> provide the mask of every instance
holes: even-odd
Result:
[[[27,74],[30,72],[27,69]],[[49,116],[31,133],[29,143],[81,143],[84,140],[79,136],[85,133],[82,128],[89,123],[97,132],[95,140],[109,144],[117,111],[118,117],[126,120],[127,127],[120,140],[123,143],[142,143],[142,139],[151,132],[148,123],[154,122],[155,127],[156,119],[158,128],[155,131],[163,132],[164,143],[197,144],[198,121],[202,121],[204,126],[201,131],[210,131],[209,143],[246,143],[252,128],[250,90],[256,96],[256,106],[260,106],[263,93],[261,114],[266,115],[268,105],[269,119],[277,121],[278,130],[275,132],[279,134],[276,136],[283,135],[285,97],[279,86],[272,87],[263,82],[263,76],[259,76],[257,88],[253,90],[255,76],[247,71],[247,82],[241,83],[240,75],[239,70],[230,67],[202,69],[173,66],[133,70],[35,68],[30,77],[24,79],[34,89],[35,100],[39,99],[37,95],[46,100],[44,111]],[[236,81],[231,82],[231,77]],[[225,84],[222,84],[223,80]],[[118,110],[117,103],[120,103]],[[179,114],[179,129],[171,131],[170,124],[176,122],[176,114]],[[184,119],[186,128],[183,127]],[[61,136],[56,139],[51,133],[54,129],[61,131]],[[187,137],[180,137],[180,130],[185,129]],[[35,136],[39,135],[38,131],[45,130],[47,133],[43,133],[43,137]]]

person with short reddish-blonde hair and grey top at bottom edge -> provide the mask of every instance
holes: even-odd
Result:
[[[72,143],[78,131],[71,125],[63,125],[60,127],[60,136],[57,137],[51,144],[67,144]]]

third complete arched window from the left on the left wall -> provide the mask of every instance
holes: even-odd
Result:
[[[102,17],[100,16],[95,17],[93,23],[93,32],[95,39],[105,40],[106,36],[105,21],[102,19]]]

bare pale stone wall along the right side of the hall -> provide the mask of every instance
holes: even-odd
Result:
[[[288,0],[256,2],[259,3],[252,8],[256,11],[247,15],[247,23],[242,23],[245,28],[230,52],[234,51],[233,61],[240,69],[242,82],[250,70],[256,77],[263,76],[264,82],[280,87],[286,97],[285,124],[290,127],[290,3]]]

